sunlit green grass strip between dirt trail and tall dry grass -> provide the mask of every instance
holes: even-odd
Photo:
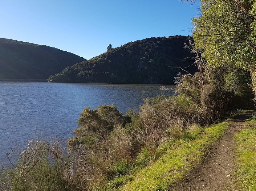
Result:
[[[178,179],[183,179],[188,170],[202,161],[206,148],[216,143],[227,126],[228,122],[223,122],[201,129],[201,133],[191,132],[176,142],[163,144],[159,147],[159,159],[137,169],[137,172],[132,170],[128,175],[108,182],[108,188],[105,187],[104,190],[168,190]]]

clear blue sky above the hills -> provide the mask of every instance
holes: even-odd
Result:
[[[45,44],[85,59],[152,36],[191,35],[194,5],[178,0],[0,0],[0,38]]]

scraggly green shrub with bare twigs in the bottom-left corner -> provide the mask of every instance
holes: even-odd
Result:
[[[16,160],[10,155],[17,155]],[[32,139],[27,147],[6,153],[12,169],[2,170],[5,181],[0,182],[2,190],[90,190],[88,169],[90,166],[85,150],[80,147],[77,153],[67,152],[55,140]],[[14,162],[16,161],[16,162]],[[3,176],[2,175],[2,176]],[[1,179],[0,179],[1,180]]]

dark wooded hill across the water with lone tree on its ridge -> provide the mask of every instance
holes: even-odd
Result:
[[[192,56],[184,43],[190,36],[152,37],[129,42],[82,61],[49,77],[50,82],[173,84],[179,72],[172,67],[187,67]],[[195,68],[190,67],[194,73]]]

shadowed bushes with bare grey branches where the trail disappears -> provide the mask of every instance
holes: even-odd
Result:
[[[186,47],[195,54],[193,65],[197,66],[198,72],[192,75],[182,69],[187,74],[176,77],[176,91],[201,110],[202,118],[212,123],[225,119],[234,110],[254,108],[248,71],[230,63],[209,66],[201,56],[204,52],[193,47],[192,43]]]

